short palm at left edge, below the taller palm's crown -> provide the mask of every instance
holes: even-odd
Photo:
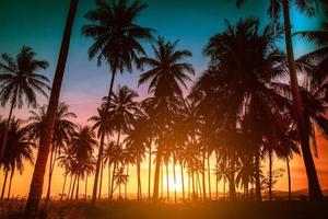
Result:
[[[35,147],[35,143],[27,138],[26,129],[22,127],[22,120],[13,118],[9,126],[9,136],[5,145],[4,157],[1,160],[0,168],[5,172],[1,199],[3,199],[5,184],[8,180],[8,173],[10,174],[10,182],[8,188],[8,199],[10,198],[12,178],[15,171],[19,171],[20,174],[24,171],[24,161],[33,164],[33,150],[32,147]],[[1,132],[5,129],[7,122],[3,120],[0,124]],[[0,140],[3,140],[3,136],[0,137]]]

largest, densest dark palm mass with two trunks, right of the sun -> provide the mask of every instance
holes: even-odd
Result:
[[[201,114],[216,127],[219,142],[229,151],[229,182],[233,197],[234,166],[238,148],[245,138],[241,135],[243,130],[237,127],[244,124],[245,131],[251,131],[248,137],[254,142],[248,143],[253,150],[248,152],[256,158],[256,192],[257,199],[260,199],[258,147],[261,147],[262,138],[278,136],[278,130],[286,128],[281,120],[288,101],[271,84],[273,79],[284,74],[281,67],[284,56],[274,44],[280,35],[274,34],[269,25],[262,32],[258,26],[257,19],[239,20],[236,25],[226,22],[226,31],[211,37],[204,48],[204,54],[211,58],[210,68],[196,83],[191,95],[198,100]],[[270,131],[276,132],[270,132],[266,124],[272,125]]]

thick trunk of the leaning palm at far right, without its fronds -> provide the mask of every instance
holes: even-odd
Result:
[[[309,138],[305,128],[305,122],[302,113],[302,102],[300,96],[298,81],[297,81],[295,59],[293,53],[289,0],[283,0],[282,4],[283,4],[285,45],[286,45],[288,62],[289,62],[290,77],[291,77],[293,106],[294,106],[295,118],[297,122],[297,131],[301,141],[303,161],[305,164],[305,170],[306,170],[306,175],[308,181],[308,196],[309,199],[312,200],[319,200],[319,199],[321,200],[324,199],[324,196],[318,181],[316,166],[313,161],[312,152],[309,149]]]

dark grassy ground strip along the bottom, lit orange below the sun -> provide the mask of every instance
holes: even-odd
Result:
[[[19,219],[24,203],[0,204],[1,219]],[[207,201],[164,204],[147,201],[101,201],[91,208],[85,201],[52,201],[47,219],[292,219],[328,218],[328,201]]]

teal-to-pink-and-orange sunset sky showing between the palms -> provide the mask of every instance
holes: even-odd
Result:
[[[269,22],[266,15],[268,1],[248,0],[242,9],[235,7],[234,1],[229,0],[143,0],[149,4],[138,19],[138,23],[143,26],[156,30],[155,35],[164,36],[166,39],[179,39],[179,49],[189,49],[192,57],[187,61],[191,62],[197,71],[194,81],[206,69],[208,58],[202,56],[202,48],[210,36],[224,30],[224,19],[236,22],[239,18],[259,18],[261,24]],[[63,26],[68,13],[69,0],[0,0],[0,54],[8,53],[15,55],[23,45],[31,46],[37,58],[49,61],[49,68],[44,72],[50,80],[54,78],[57,58]],[[109,87],[109,68],[103,65],[97,67],[96,60],[89,60],[87,49],[92,39],[85,38],[81,34],[81,26],[86,24],[83,18],[86,11],[94,8],[93,0],[80,0],[75,23],[71,37],[70,51],[60,100],[71,106],[78,118],[74,120],[82,125],[86,124],[89,117],[96,113],[96,107],[101,103],[102,96],[107,94]],[[302,30],[318,28],[317,18],[306,18],[292,9],[291,19],[293,32]],[[278,43],[284,49],[283,42]],[[152,55],[150,44],[143,44],[148,55]],[[294,53],[298,57],[314,50],[316,47],[304,41],[294,38]],[[133,69],[117,77],[117,84],[127,84],[138,90],[140,99],[148,96],[147,85],[138,88],[140,71]],[[39,105],[47,103],[43,97]],[[0,108],[0,115],[7,116],[8,107]],[[28,110],[23,107],[14,110],[14,115],[26,118]],[[316,159],[321,186],[328,188],[328,152],[327,141],[319,138],[319,158]],[[283,165],[279,163],[279,165]],[[305,188],[306,177],[301,159],[294,159],[292,169],[294,170],[294,188]],[[23,176],[16,176],[14,194],[26,195],[30,185],[32,166],[26,166]],[[147,168],[144,166],[144,170]],[[61,172],[55,172],[54,193],[58,193]],[[57,176],[56,176],[57,175]],[[0,183],[2,175],[0,175]],[[20,185],[20,180],[26,182]],[[56,183],[55,183],[56,184]],[[132,182],[131,182],[132,184]],[[90,186],[91,187],[91,186]],[[285,178],[278,185],[281,189],[286,189]]]

